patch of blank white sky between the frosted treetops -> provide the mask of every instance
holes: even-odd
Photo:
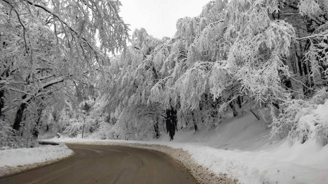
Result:
[[[172,37],[176,21],[186,16],[194,17],[210,0],[120,0],[119,15],[130,24],[130,35],[135,29],[145,28],[156,37]]]

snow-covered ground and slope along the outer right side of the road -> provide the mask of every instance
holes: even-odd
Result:
[[[199,165],[237,178],[240,183],[328,183],[328,146],[318,146],[314,140],[292,146],[288,139],[270,141],[267,123],[251,113],[227,120],[217,130],[179,131],[173,141],[168,140],[168,135],[161,135],[159,140],[147,141],[51,141],[166,145],[188,151]]]

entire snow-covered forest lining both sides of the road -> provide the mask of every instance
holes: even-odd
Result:
[[[218,0],[174,37],[129,35],[119,1],[0,1],[0,146],[38,134],[142,140],[251,112],[272,139],[328,143],[328,2]]]

